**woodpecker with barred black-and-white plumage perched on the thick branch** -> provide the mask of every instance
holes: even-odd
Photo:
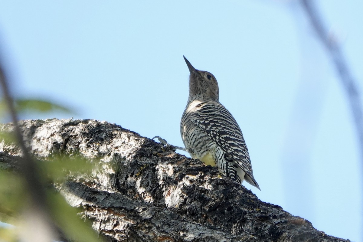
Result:
[[[253,177],[250,156],[240,126],[219,102],[215,76],[195,69],[184,57],[189,75],[189,97],[181,116],[180,134],[193,159],[218,167],[224,176],[260,189]],[[178,147],[180,148],[180,147]]]

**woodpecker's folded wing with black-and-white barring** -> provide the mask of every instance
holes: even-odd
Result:
[[[190,119],[223,149],[227,159],[236,163],[253,179],[251,161],[242,131],[227,108],[216,102],[205,103],[191,114]]]

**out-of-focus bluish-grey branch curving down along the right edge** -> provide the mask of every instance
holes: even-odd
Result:
[[[353,78],[339,45],[323,25],[323,21],[317,9],[314,7],[313,2],[311,0],[301,0],[303,9],[306,11],[311,25],[322,41],[323,46],[328,50],[335,69],[339,74],[340,81],[347,93],[357,129],[363,170],[363,108],[357,81]]]

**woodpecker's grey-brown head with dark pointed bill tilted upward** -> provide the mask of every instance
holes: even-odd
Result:
[[[190,72],[188,102],[193,100],[218,102],[219,88],[214,75],[208,71],[195,69],[187,58],[183,57]]]

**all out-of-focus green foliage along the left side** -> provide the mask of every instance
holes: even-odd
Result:
[[[71,113],[69,108],[60,104],[38,99],[17,99],[15,102],[17,112],[49,112],[63,111]],[[4,101],[0,102],[0,116],[7,112]],[[0,132],[0,142],[15,143],[16,138],[12,133]],[[54,154],[44,161],[36,161],[37,169],[44,184],[60,184],[67,177],[82,177],[90,174],[95,163],[86,160],[81,154],[68,155]],[[26,190],[26,182],[17,173],[16,168],[0,162],[0,222],[15,225],[6,226],[0,224],[0,241],[19,241],[18,225],[24,221],[23,212],[29,201],[29,191]],[[45,204],[49,209],[49,217],[54,224],[62,231],[67,238],[79,242],[101,241],[97,233],[91,229],[90,223],[82,220],[77,214],[78,210],[67,204],[64,198],[54,189],[54,186],[47,186]]]

